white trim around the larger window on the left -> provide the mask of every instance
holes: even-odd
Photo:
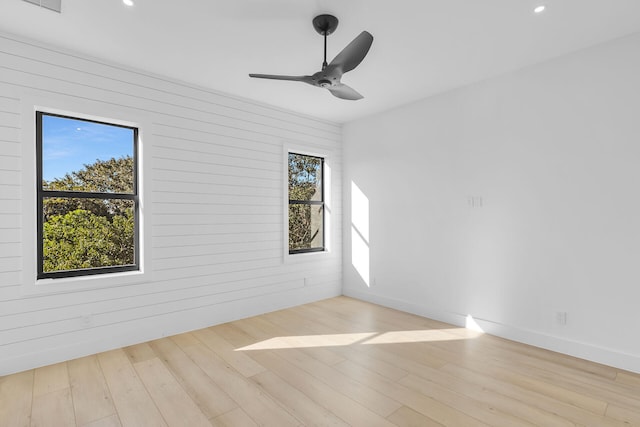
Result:
[[[29,92],[22,100],[22,285],[23,295],[77,292],[151,280],[151,121],[138,112],[64,95]],[[59,279],[37,278],[36,111],[138,128],[140,270]]]

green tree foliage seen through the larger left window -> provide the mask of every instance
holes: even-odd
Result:
[[[133,159],[97,160],[50,182],[46,190],[131,193]],[[48,198],[43,202],[45,272],[134,263],[133,202]]]

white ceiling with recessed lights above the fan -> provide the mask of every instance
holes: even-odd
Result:
[[[0,0],[0,31],[335,122],[348,122],[640,31],[640,0],[63,0],[62,13]],[[533,13],[544,3],[547,10]],[[313,74],[314,16],[338,17],[329,61],[374,36],[334,98],[248,73]]]

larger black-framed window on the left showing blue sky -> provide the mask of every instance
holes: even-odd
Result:
[[[36,112],[37,278],[139,270],[138,129]]]

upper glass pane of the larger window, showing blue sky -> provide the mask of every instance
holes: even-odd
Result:
[[[131,128],[42,115],[45,190],[134,192]]]

